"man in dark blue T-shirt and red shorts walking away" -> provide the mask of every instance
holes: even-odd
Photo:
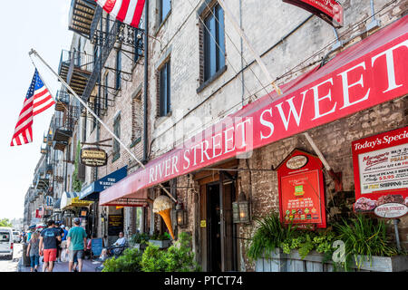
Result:
[[[40,234],[40,256],[43,256],[43,272],[48,269],[48,272],[53,272],[53,263],[57,255],[57,240],[61,241],[59,231],[54,227],[54,221],[47,222],[48,227],[44,228]]]

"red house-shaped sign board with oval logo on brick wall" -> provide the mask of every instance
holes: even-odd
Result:
[[[279,212],[285,224],[325,227],[325,189],[322,162],[294,150],[277,168]]]

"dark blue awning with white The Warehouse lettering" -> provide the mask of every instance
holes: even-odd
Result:
[[[128,167],[124,166],[121,169],[113,171],[111,174],[104,176],[102,179],[98,179],[88,185],[79,193],[81,200],[99,200],[99,193],[104,189],[108,189],[113,184],[121,179],[124,179],[128,175]]]

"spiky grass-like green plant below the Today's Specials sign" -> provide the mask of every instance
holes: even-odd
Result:
[[[371,263],[372,256],[398,255],[398,250],[390,245],[384,220],[357,215],[349,223],[343,220],[343,224],[338,224],[335,228],[338,238],[345,242],[346,260],[350,261],[354,257],[357,267],[364,262],[358,256],[367,256]],[[346,265],[347,263],[345,267]]]

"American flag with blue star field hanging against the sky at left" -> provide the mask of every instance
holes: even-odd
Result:
[[[33,117],[53,106],[53,97],[35,69],[33,81],[24,99],[23,110],[15,125],[15,134],[10,146],[23,145],[33,141]]]

